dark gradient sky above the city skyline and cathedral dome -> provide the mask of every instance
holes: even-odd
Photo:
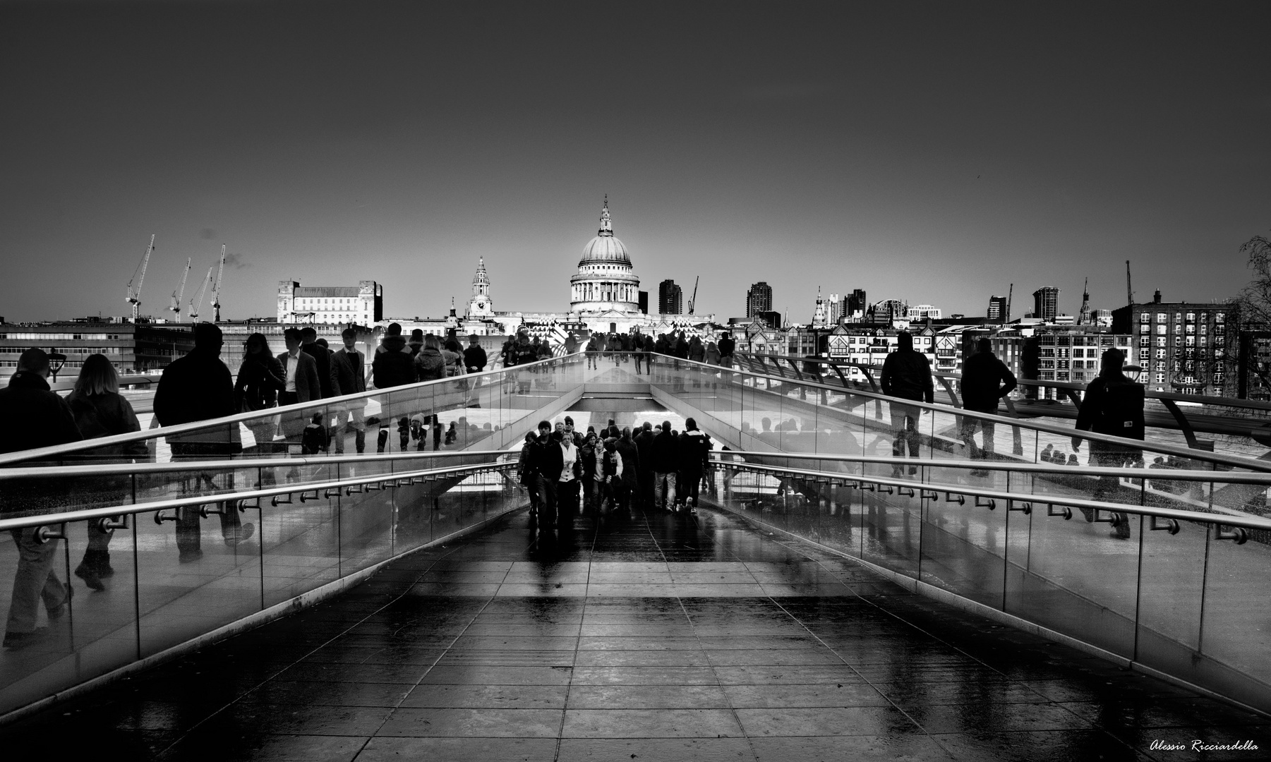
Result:
[[[1267,3],[0,3],[0,315],[167,315],[229,246],[393,316],[566,310],[609,193],[642,287],[808,321],[1234,293],[1271,229]],[[205,307],[205,315],[207,314]]]

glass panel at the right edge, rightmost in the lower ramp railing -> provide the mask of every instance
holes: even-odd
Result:
[[[1232,533],[1230,527],[1221,530],[1224,535]],[[1206,669],[1207,687],[1242,700],[1246,686],[1237,690],[1228,671],[1257,681],[1263,691],[1271,686],[1271,629],[1261,605],[1271,589],[1271,546],[1267,531],[1249,535],[1252,538],[1240,545],[1219,538],[1219,526],[1210,525],[1199,649],[1216,663]]]

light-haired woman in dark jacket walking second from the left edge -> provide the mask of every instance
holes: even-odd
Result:
[[[271,358],[272,359],[272,358]],[[140,432],[141,424],[132,411],[132,405],[119,394],[119,376],[104,354],[89,354],[75,380],[75,390],[66,398],[75,414],[75,425],[85,439],[113,437]],[[123,444],[108,444],[86,450],[80,457],[95,464],[132,464],[150,460],[150,450],[145,442],[133,441]],[[127,502],[130,479],[127,475],[102,476],[93,485],[94,498],[107,505]],[[84,580],[94,591],[105,589],[102,578],[114,574],[111,566],[111,536],[98,522],[88,523],[88,549],[84,559],[75,568],[75,577]]]

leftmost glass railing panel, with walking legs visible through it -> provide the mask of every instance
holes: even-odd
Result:
[[[38,542],[34,530],[4,532],[0,540],[0,714],[137,658],[132,531],[103,535],[93,523],[92,530],[83,521],[48,527],[66,542]],[[94,552],[85,556],[90,542]]]

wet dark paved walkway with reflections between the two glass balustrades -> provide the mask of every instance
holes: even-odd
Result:
[[[0,748],[14,759],[1262,759],[1271,720],[913,596],[731,514],[637,509],[561,526],[507,517],[0,728]]]

